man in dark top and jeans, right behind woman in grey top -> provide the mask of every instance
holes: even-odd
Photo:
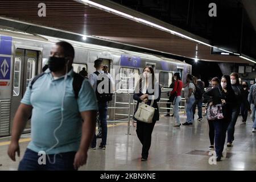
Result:
[[[201,94],[202,94],[202,96],[203,96],[203,94],[204,94],[204,82],[201,81],[201,75],[195,76],[195,79],[196,79],[196,85],[197,85],[198,88],[200,89]],[[194,120],[194,118],[195,118],[196,106],[197,106],[197,109],[198,109],[198,118],[197,118],[197,121],[201,121],[201,120],[203,119],[203,116],[202,116],[203,98],[196,99],[196,101],[195,101],[195,103],[194,103],[194,105],[193,105],[193,120]]]

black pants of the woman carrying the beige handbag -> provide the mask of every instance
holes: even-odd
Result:
[[[142,158],[147,159],[148,151],[151,146],[151,134],[155,126],[155,122],[152,123],[144,123],[141,121],[137,121],[137,129],[136,133],[142,144]]]

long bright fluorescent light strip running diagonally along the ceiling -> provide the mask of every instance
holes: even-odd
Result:
[[[89,5],[89,6],[91,5],[93,7],[98,7],[100,9],[103,9],[103,10],[109,12],[109,13],[114,13],[114,14],[123,16],[125,18],[129,18],[129,19],[135,20],[136,22],[144,23],[144,24],[146,24],[148,26],[151,26],[151,27],[154,27],[154,28],[158,28],[159,30],[163,30],[163,31],[169,32],[169,33],[171,33],[173,35],[176,35],[176,36],[179,36],[181,38],[192,40],[193,42],[197,42],[197,43],[200,43],[200,44],[204,44],[205,46],[212,47],[208,43],[201,42],[200,40],[193,39],[193,38],[191,38],[191,37],[189,37],[187,35],[180,34],[179,32],[170,30],[170,29],[168,29],[166,27],[159,26],[158,24],[155,24],[155,23],[152,23],[152,22],[148,22],[147,20],[144,20],[144,19],[141,19],[141,18],[137,18],[135,16],[131,16],[131,15],[123,13],[121,11],[114,10],[114,9],[112,9],[110,7],[107,7],[107,6],[104,6],[104,5],[100,5],[100,4],[96,3],[96,2],[92,2],[92,1],[89,1],[89,0],[79,0],[79,1],[86,3],[86,5]]]

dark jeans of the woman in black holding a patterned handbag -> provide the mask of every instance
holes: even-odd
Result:
[[[213,121],[215,131],[215,151],[217,157],[221,157],[224,150],[224,144],[226,140],[226,130],[228,129],[229,122],[224,119],[216,119]]]

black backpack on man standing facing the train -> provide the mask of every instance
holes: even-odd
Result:
[[[99,76],[100,75],[100,72],[96,71],[94,72],[95,75]],[[104,81],[105,79],[105,76],[108,76],[108,72],[104,72],[104,77],[101,79],[101,80],[97,80],[97,86],[96,86],[96,97],[97,97],[97,100],[100,101],[100,102],[107,102],[107,101],[112,101],[112,96],[113,96],[113,93],[112,93],[112,83],[111,83],[111,80],[110,78],[108,77],[108,81],[109,81],[109,84],[108,84],[108,93],[98,93],[98,85]],[[104,85],[102,86],[101,89],[104,89]]]

